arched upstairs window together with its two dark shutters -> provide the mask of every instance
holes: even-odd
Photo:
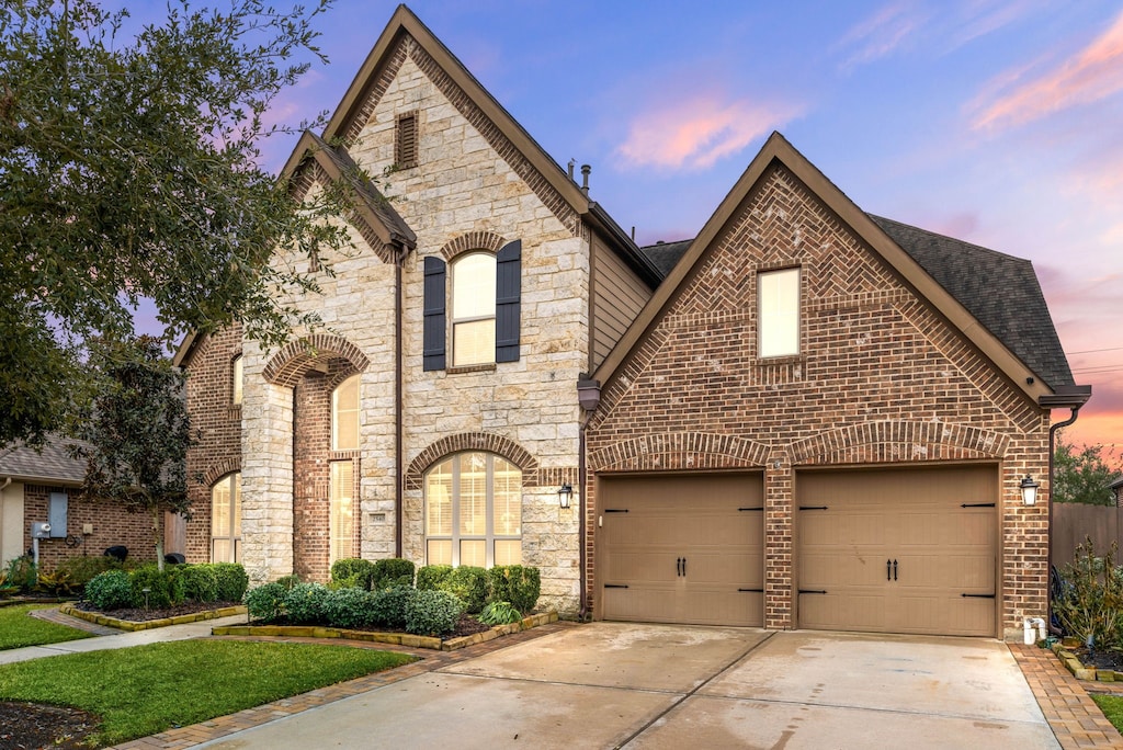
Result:
[[[447,264],[424,258],[424,369],[445,369],[446,348],[453,367],[518,362],[522,293],[522,241],[499,253],[467,253]],[[446,287],[451,275],[451,291]],[[446,307],[446,301],[450,302]],[[448,329],[451,337],[448,337]],[[451,340],[446,340],[450,338]]]

